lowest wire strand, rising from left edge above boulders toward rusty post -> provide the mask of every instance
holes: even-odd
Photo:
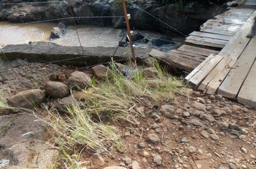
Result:
[[[121,61],[124,61],[124,60],[127,60],[127,59],[129,59],[129,58],[114,60],[114,62],[121,62]],[[109,63],[111,63],[111,62],[112,62],[112,61],[104,62],[104,63],[99,63],[99,64],[109,64]],[[67,72],[72,72],[72,71],[78,70],[78,69],[88,69],[88,68],[90,68],[90,67],[96,67],[96,66],[98,66],[99,64],[93,64],[93,65],[87,66],[87,67],[79,67],[79,68],[77,68],[77,69],[70,69],[70,70],[67,70],[67,71],[65,71],[65,72],[60,72],[59,74],[63,74],[63,73],[67,73]],[[29,81],[35,80],[35,79],[43,79],[43,78],[45,78],[45,77],[50,77],[51,75],[52,75],[52,74],[49,74],[49,75],[43,76],[43,77],[37,77],[37,78],[33,78],[33,79],[27,79],[27,80],[20,81],[20,82],[1,84],[0,87],[1,87],[1,86],[6,86],[6,85],[12,85],[12,84],[19,84],[19,83],[29,82]]]

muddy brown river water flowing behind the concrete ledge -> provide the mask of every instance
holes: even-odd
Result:
[[[49,41],[50,32],[54,26],[58,26],[58,23],[15,24],[9,21],[0,21],[0,44],[27,44],[29,41]],[[79,24],[77,25],[77,32],[83,47],[117,47],[126,33],[126,29]],[[163,36],[163,34],[156,32],[140,32],[150,41],[153,38]],[[60,39],[53,39],[52,42],[64,46],[80,46],[78,36],[75,26],[69,25],[65,30],[65,35]],[[162,47],[154,47],[151,42],[139,44],[136,47],[159,49],[166,52],[183,44],[184,37],[175,37],[173,41],[175,44],[163,45]]]

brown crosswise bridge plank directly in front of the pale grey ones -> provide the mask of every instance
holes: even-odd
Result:
[[[201,47],[192,47],[192,46],[189,46],[186,44],[184,44],[182,47],[178,48],[178,50],[191,52],[191,53],[195,53],[195,54],[201,54],[206,57],[209,56],[210,54],[218,54],[219,53],[216,50],[204,49]]]

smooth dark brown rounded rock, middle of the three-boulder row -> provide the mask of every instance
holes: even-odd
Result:
[[[58,98],[63,98],[70,94],[68,86],[62,82],[47,82],[45,91],[48,95]]]

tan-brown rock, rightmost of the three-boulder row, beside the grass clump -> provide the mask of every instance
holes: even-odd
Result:
[[[70,87],[76,89],[84,89],[91,84],[91,78],[87,76],[84,72],[73,72],[68,78],[68,84]]]

